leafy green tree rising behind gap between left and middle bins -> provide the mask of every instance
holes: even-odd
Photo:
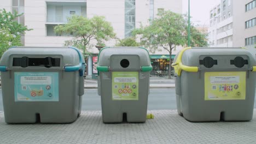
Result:
[[[111,38],[115,38],[114,29],[104,16],[94,16],[88,19],[84,16],[74,15],[68,18],[66,25],[58,25],[54,28],[57,34],[70,34],[72,40],[66,40],[65,46],[75,46],[88,53],[92,46],[91,41],[103,43]]]

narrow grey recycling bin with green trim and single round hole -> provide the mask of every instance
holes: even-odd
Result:
[[[145,122],[149,94],[149,53],[143,47],[104,47],[98,55],[98,94],[104,123]]]

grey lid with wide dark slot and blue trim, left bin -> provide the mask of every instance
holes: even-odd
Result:
[[[75,71],[85,64],[82,53],[75,47],[11,47],[0,60],[5,69],[65,69]],[[42,67],[45,66],[45,67]],[[81,67],[81,68],[80,68]]]

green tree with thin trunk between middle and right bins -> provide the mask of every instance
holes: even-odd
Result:
[[[159,17],[152,21],[150,26],[135,29],[133,34],[141,36],[141,44],[149,48],[150,52],[159,50],[159,47],[167,50],[170,55],[168,79],[171,79],[171,56],[176,46],[184,45],[186,22],[181,14],[171,11],[162,11]]]

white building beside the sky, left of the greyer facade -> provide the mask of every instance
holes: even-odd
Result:
[[[233,7],[232,0],[221,0],[210,10],[208,41],[210,47],[232,47]]]

